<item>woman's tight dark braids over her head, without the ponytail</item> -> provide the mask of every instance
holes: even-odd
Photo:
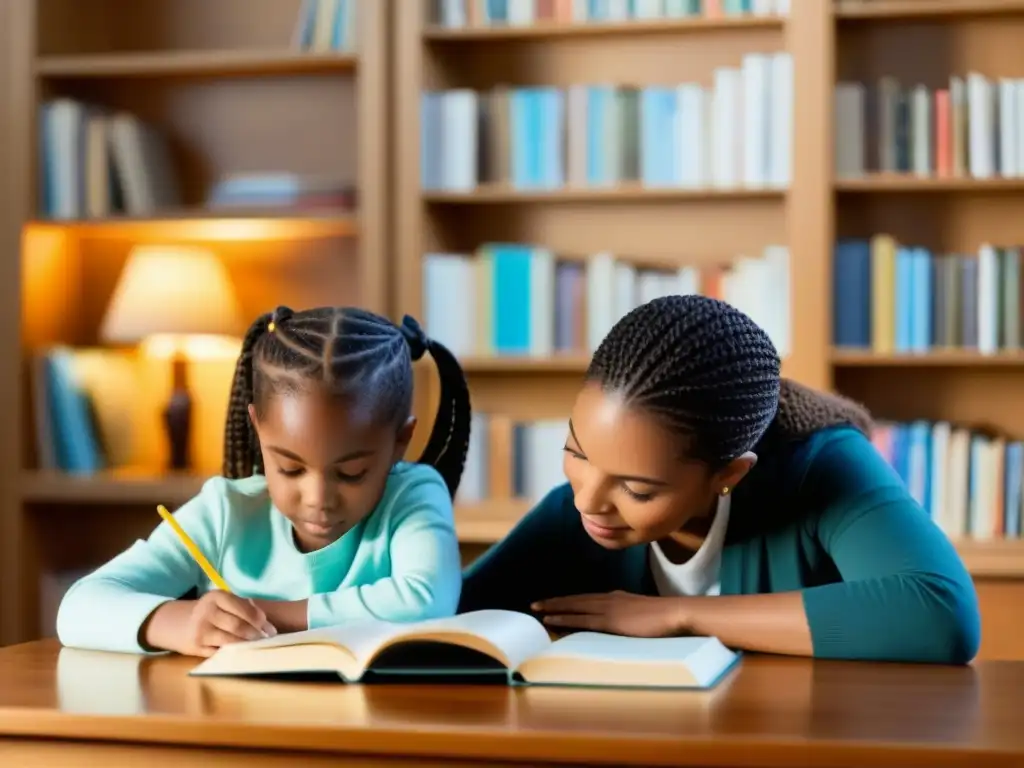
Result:
[[[668,296],[615,324],[587,379],[690,437],[694,458],[721,465],[753,449],[772,423],[779,368],[768,335],[738,309]]]

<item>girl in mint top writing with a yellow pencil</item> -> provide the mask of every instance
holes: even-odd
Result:
[[[427,351],[440,403],[420,463],[408,464],[411,360]],[[231,592],[211,589],[163,522],[69,590],[60,641],[208,656],[278,632],[451,615],[462,581],[452,498],[469,424],[462,369],[412,318],[397,328],[361,309],[279,307],[243,341],[223,477],[175,514]]]

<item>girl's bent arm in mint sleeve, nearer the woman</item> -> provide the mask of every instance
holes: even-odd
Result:
[[[462,560],[447,486],[430,467],[413,467],[381,522],[367,536],[387,550],[390,572],[308,600],[256,600],[279,632],[378,618],[415,622],[453,615],[462,588]]]

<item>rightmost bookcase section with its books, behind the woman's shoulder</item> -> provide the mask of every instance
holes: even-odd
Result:
[[[842,319],[828,355],[831,383],[879,419],[946,422],[981,438],[965,453],[966,442],[950,449],[933,429],[921,443],[931,452],[926,483],[938,475],[934,457],[944,456],[950,478],[977,471],[988,478],[981,485],[1000,488],[984,503],[969,501],[966,510],[933,505],[933,514],[974,574],[982,653],[1019,658],[1019,620],[1010,616],[1024,594],[1024,540],[1000,513],[1008,499],[1016,500],[1015,492],[1002,489],[1019,474],[1011,446],[1024,437],[1017,395],[1024,358],[1012,271],[1024,191],[1016,165],[1024,70],[1015,42],[1024,31],[1024,3],[839,0],[834,11],[836,81],[846,92],[838,92],[833,116],[833,215],[836,237],[847,241],[834,268],[846,283],[862,259],[851,243],[868,241],[860,263],[872,282],[863,303],[835,295]],[[853,83],[863,86],[860,95]],[[862,97],[864,127],[851,129],[851,118],[860,121],[854,103]],[[889,112],[893,104],[896,113]],[[903,111],[907,119],[893,134],[888,116],[902,120]],[[888,279],[877,282],[889,263],[877,236],[891,237],[899,249],[895,269],[903,271],[890,286]],[[849,312],[858,306],[866,310],[866,326],[850,325]],[[884,307],[892,307],[891,318]],[[890,319],[898,324],[894,333]],[[957,536],[963,530],[970,535]]]

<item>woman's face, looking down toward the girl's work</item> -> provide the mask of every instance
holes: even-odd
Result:
[[[750,468],[719,472],[681,457],[678,434],[599,384],[577,397],[565,440],[565,476],[590,537],[607,549],[666,539],[707,516],[723,487]]]

